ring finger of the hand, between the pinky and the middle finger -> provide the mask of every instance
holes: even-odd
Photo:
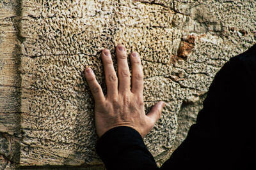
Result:
[[[108,97],[111,97],[113,99],[113,97],[116,97],[118,95],[118,80],[109,50],[103,50],[101,53],[101,57],[106,77]]]

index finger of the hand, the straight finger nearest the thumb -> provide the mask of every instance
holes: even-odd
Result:
[[[131,56],[132,65],[132,93],[143,95],[143,70],[138,53],[132,52]]]

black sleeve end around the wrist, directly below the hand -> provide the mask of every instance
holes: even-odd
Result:
[[[96,150],[107,169],[159,169],[141,135],[131,127],[115,127],[97,141]]]

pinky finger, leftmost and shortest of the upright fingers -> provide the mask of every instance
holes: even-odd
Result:
[[[95,74],[93,73],[92,69],[86,68],[84,70],[84,75],[92,92],[95,103],[104,102],[104,94],[98,81],[95,78]]]

